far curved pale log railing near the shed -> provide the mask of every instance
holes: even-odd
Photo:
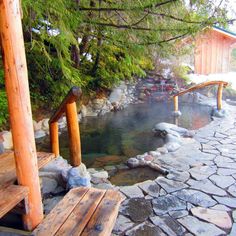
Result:
[[[181,91],[175,95],[173,95],[173,99],[174,99],[174,112],[178,112],[179,111],[179,104],[178,104],[178,98],[179,96],[194,91],[196,89],[201,89],[204,88],[206,86],[210,86],[210,85],[218,85],[218,91],[217,91],[217,109],[220,111],[222,109],[222,91],[223,91],[223,87],[225,88],[228,83],[225,81],[208,81],[208,82],[204,82],[201,84],[197,84],[195,86],[192,86],[184,91]]]

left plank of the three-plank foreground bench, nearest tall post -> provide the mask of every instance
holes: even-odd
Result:
[[[54,235],[67,220],[77,204],[83,199],[88,190],[89,188],[83,187],[71,189],[33,231],[33,235]]]

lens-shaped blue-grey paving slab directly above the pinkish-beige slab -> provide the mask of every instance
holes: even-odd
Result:
[[[197,206],[211,207],[217,204],[209,195],[193,189],[183,189],[172,195]]]

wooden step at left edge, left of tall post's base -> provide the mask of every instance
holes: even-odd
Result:
[[[20,185],[9,185],[0,188],[0,218],[27,198],[29,188]]]

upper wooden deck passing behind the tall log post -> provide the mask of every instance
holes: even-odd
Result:
[[[37,152],[38,168],[42,168],[55,158],[53,153]],[[0,185],[14,184],[16,181],[16,168],[14,153],[5,152],[0,155]]]

